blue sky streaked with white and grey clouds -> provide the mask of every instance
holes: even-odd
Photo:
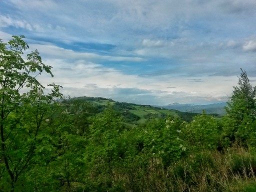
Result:
[[[24,35],[67,96],[223,102],[256,83],[256,0],[0,0],[0,39]]]

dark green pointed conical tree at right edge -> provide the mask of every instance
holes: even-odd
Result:
[[[241,69],[238,85],[233,88],[226,107],[224,134],[230,141],[236,139],[243,142],[250,131],[248,126],[256,119],[256,86],[252,87],[247,73]]]

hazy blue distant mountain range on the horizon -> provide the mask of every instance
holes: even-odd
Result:
[[[175,109],[182,112],[193,112],[193,113],[202,113],[202,110],[205,110],[207,114],[216,113],[220,115],[225,114],[224,107],[226,102],[214,103],[214,104],[179,104],[178,102],[173,102],[171,104],[160,106],[167,109]]]

